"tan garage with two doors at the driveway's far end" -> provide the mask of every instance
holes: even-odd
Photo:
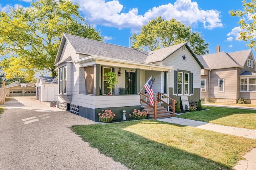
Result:
[[[32,83],[15,81],[5,86],[6,96],[36,96],[36,87]]]

